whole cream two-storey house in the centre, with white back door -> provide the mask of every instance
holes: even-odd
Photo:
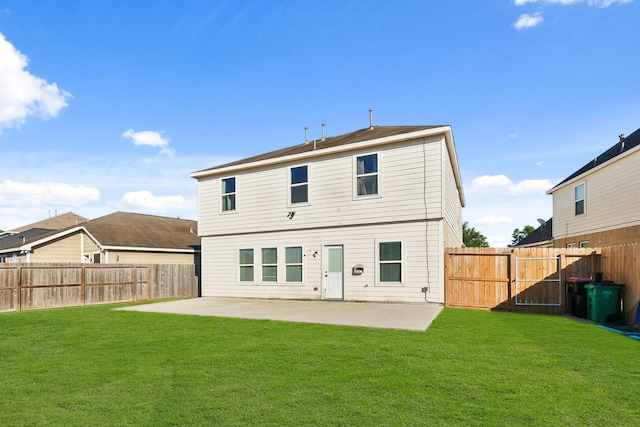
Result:
[[[444,302],[464,206],[450,126],[371,126],[191,176],[203,296]]]

